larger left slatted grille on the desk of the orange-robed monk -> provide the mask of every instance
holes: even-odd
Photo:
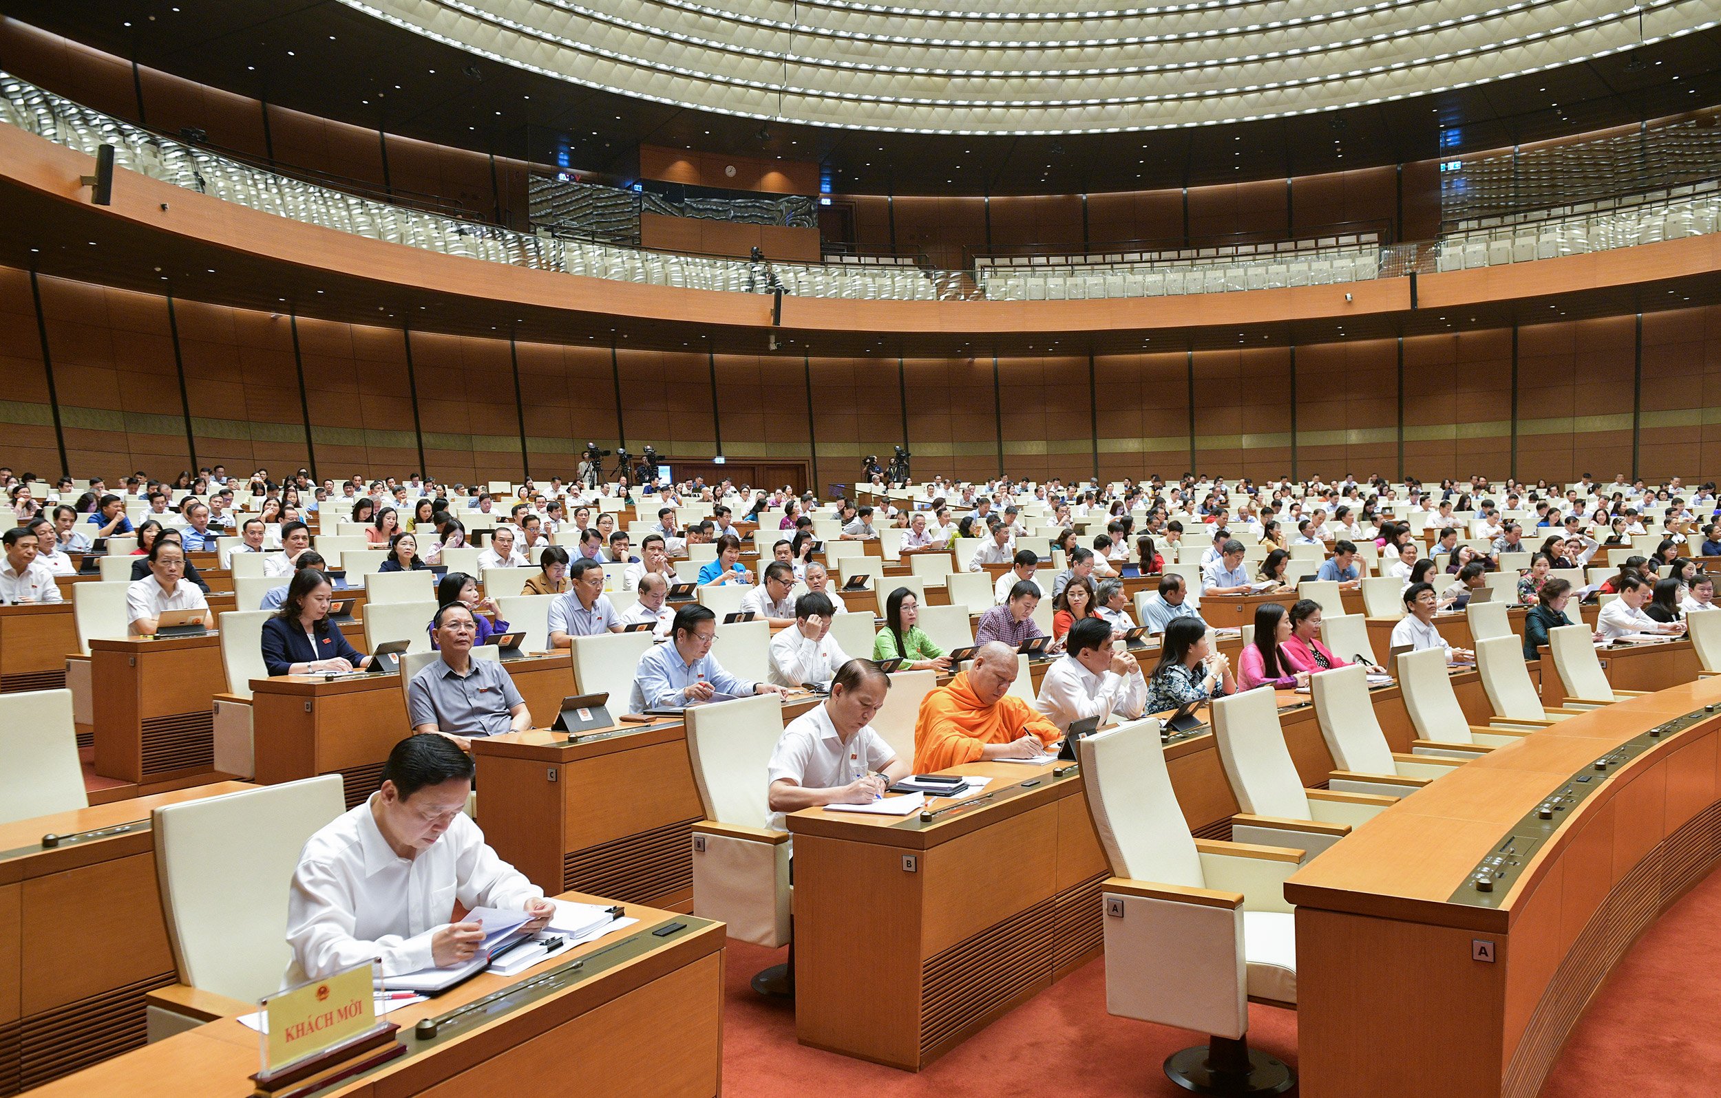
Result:
[[[1057,900],[1027,907],[921,962],[921,1062],[1052,983]]]

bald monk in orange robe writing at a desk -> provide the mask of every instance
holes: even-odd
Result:
[[[1015,649],[983,645],[974,666],[921,700],[914,721],[914,769],[929,773],[981,759],[1033,759],[1064,733],[1033,702],[1009,694]]]

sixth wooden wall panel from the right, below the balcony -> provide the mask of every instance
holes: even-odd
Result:
[[[1189,466],[1189,377],[1184,353],[1098,355],[1093,368],[1100,411],[1100,477],[1181,477]]]

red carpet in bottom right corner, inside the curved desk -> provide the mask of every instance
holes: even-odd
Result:
[[[1590,1000],[1542,1098],[1721,1093],[1721,873],[1669,907]]]

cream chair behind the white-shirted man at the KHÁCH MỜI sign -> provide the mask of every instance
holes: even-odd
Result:
[[[287,893],[306,840],[346,811],[339,774],[170,804],[151,812],[155,878],[184,996],[153,1000],[150,1039],[255,1009],[293,960]],[[179,1000],[179,1002],[172,1002]]]

